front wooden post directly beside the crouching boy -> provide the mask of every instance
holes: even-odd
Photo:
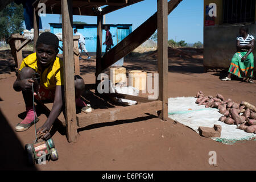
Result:
[[[65,90],[65,119],[68,142],[77,140],[77,119],[75,104],[75,74],[73,52],[73,14],[72,1],[61,0],[62,33],[63,33],[63,64]]]

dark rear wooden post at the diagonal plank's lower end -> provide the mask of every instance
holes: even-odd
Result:
[[[101,53],[102,53],[102,15],[97,16],[97,49],[96,49],[96,73],[95,73],[95,92],[97,93],[97,86],[100,81],[97,80],[101,73]]]

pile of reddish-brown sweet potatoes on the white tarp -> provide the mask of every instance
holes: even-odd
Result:
[[[222,117],[220,121],[228,125],[237,125],[238,129],[245,130],[247,133],[256,133],[256,107],[248,102],[242,101],[238,104],[230,98],[225,100],[221,94],[216,97],[204,96],[199,91],[196,94],[196,104],[205,105],[205,107],[217,108]]]

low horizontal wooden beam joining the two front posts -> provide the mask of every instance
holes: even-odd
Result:
[[[77,122],[79,123],[79,127],[85,127],[96,123],[112,122],[121,119],[132,119],[138,117],[140,114],[162,110],[162,108],[162,101],[152,101],[126,107],[109,108],[103,110],[100,109],[89,114],[77,114]]]

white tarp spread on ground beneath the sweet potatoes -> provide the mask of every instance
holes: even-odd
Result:
[[[205,108],[205,105],[195,104],[195,97],[177,97],[168,99],[169,118],[190,127],[199,133],[198,127],[213,127],[213,125],[221,125],[221,137],[212,138],[218,142],[225,144],[233,144],[241,140],[249,140],[256,137],[256,134],[246,133],[237,129],[236,125],[227,125],[218,121],[222,116],[217,109]]]

